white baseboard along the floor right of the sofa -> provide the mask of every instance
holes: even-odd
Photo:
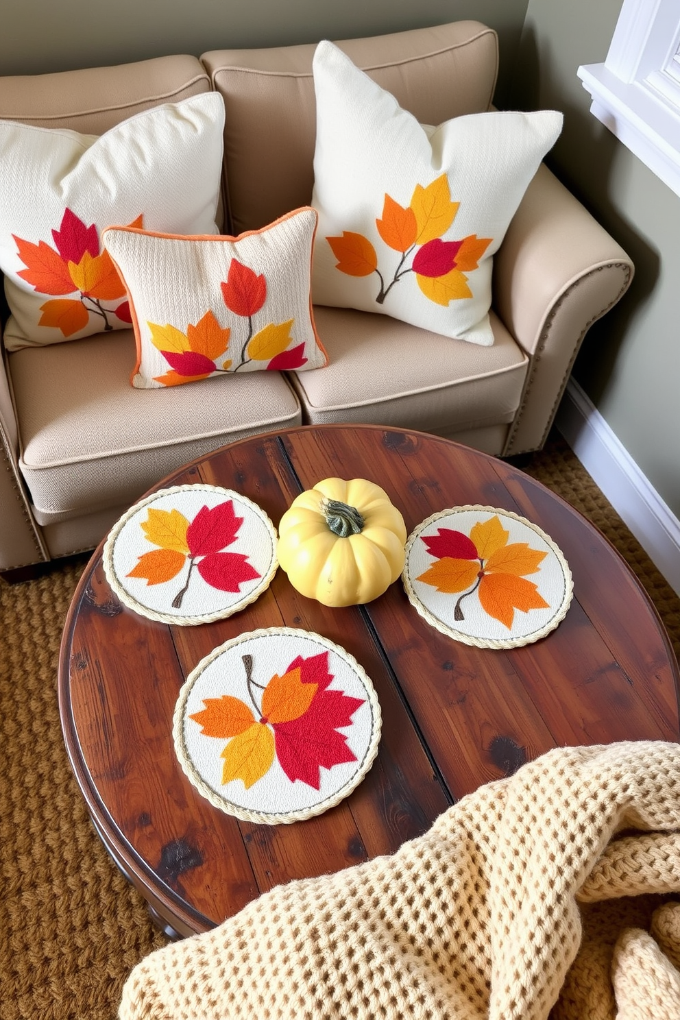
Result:
[[[680,521],[573,378],[555,423],[649,559],[680,595]]]

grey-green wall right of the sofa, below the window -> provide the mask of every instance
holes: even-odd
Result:
[[[680,197],[592,116],[576,74],[607,57],[621,4],[529,0],[511,95],[525,109],[564,110],[548,161],[635,263],[573,375],[680,517]]]

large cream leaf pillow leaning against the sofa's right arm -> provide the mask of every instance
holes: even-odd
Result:
[[[477,113],[430,128],[332,43],[319,43],[313,72],[314,303],[492,344],[491,256],[562,114]]]

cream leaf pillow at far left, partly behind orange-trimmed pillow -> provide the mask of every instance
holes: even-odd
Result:
[[[102,136],[0,121],[0,268],[10,351],[129,328],[109,224],[214,234],[224,104],[145,110]]]

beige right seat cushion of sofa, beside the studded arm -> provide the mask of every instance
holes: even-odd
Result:
[[[494,343],[473,347],[387,316],[317,305],[328,351],[294,372],[305,423],[367,422],[451,436],[512,421],[528,359],[491,313]]]

